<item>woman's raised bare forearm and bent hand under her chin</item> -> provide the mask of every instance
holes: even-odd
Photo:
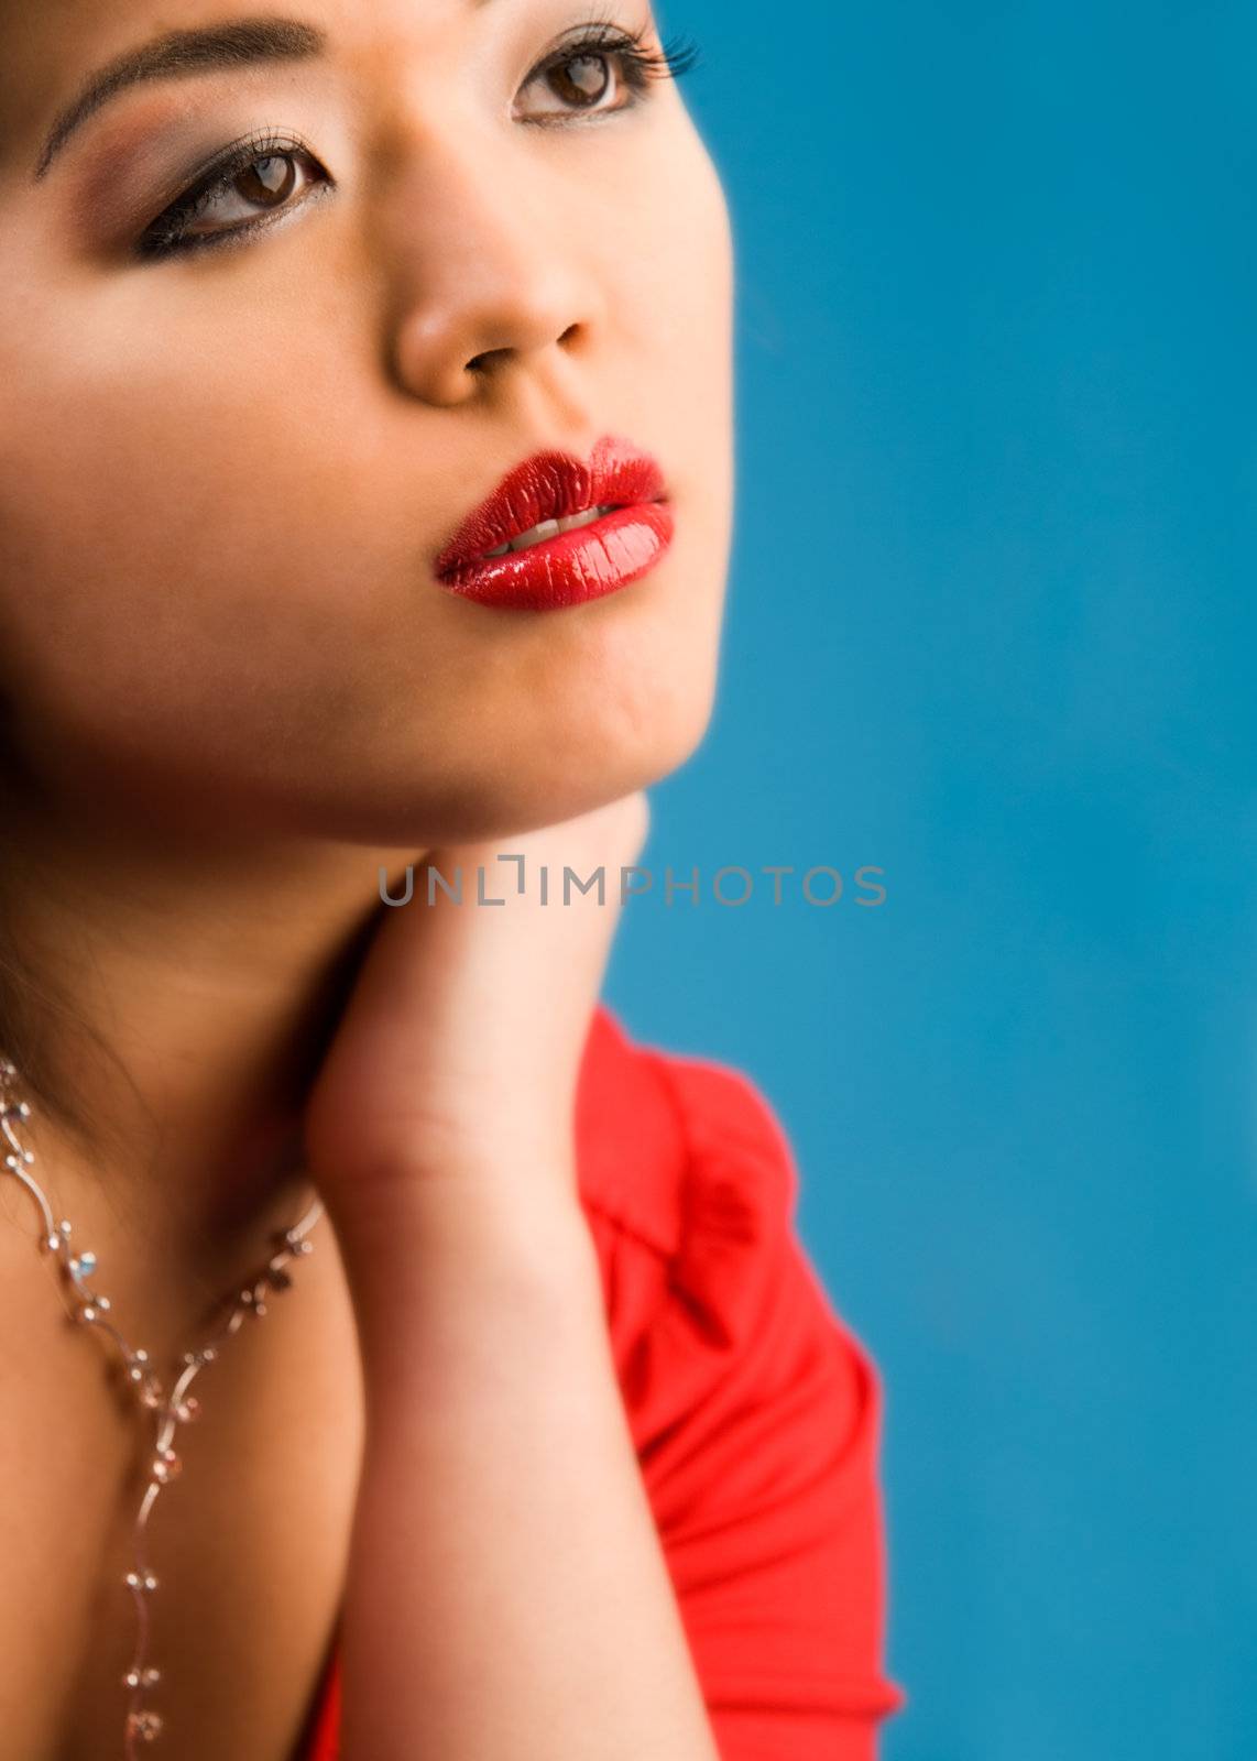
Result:
[[[512,847],[528,872],[614,875],[644,829],[632,796]],[[442,872],[482,865],[511,900],[516,866],[493,851],[445,852]],[[401,914],[315,1088],[312,1166],[368,1393],[350,1757],[717,1756],[576,1192],[576,1055],[613,923],[593,895],[569,916],[526,895]],[[415,1023],[447,1032],[428,1043]],[[486,1072],[507,1069],[486,1106]]]

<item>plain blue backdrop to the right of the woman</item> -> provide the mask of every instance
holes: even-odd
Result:
[[[632,902],[607,998],[766,1090],[884,1375],[887,1761],[1252,1761],[1257,14],[660,19],[739,505],[643,861],[849,896]]]

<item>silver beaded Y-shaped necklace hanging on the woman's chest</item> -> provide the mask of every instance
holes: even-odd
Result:
[[[232,1303],[232,1308],[224,1326],[197,1351],[183,1352],[174,1372],[173,1386],[167,1391],[164,1381],[153,1370],[148,1352],[143,1347],[132,1347],[114,1328],[113,1321],[107,1319],[111,1314],[109,1298],[100,1296],[97,1291],[88,1287],[90,1278],[93,1278],[97,1271],[97,1256],[86,1250],[77,1254],[70,1250],[70,1224],[65,1219],[53,1222],[53,1212],[42,1189],[32,1175],[26,1173],[26,1168],[35,1160],[35,1155],[32,1150],[23,1146],[14,1131],[14,1124],[30,1118],[30,1104],[26,1101],[14,1099],[16,1081],[16,1067],[9,1062],[9,1058],[0,1058],[0,1134],[7,1145],[4,1166],[16,1180],[21,1182],[39,1205],[42,1222],[39,1247],[40,1252],[51,1254],[58,1261],[58,1282],[67,1312],[81,1326],[99,1328],[114,1342],[127,1368],[127,1386],[136,1396],[144,1433],[148,1435],[148,1426],[153,1426],[151,1442],[148,1446],[148,1488],[141,1500],[134,1527],[134,1566],[121,1580],[130,1592],[136,1608],[136,1654],[132,1657],[130,1669],[127,1669],[121,1678],[121,1685],[129,1691],[123,1722],[123,1752],[127,1761],[134,1761],[136,1743],[151,1743],[157,1736],[160,1736],[164,1722],[160,1713],[153,1712],[151,1706],[144,1703],[162,1680],[160,1669],[148,1662],[148,1638],[151,1627],[150,1597],[158,1587],[158,1578],[148,1562],[146,1539],[148,1516],[153,1504],[164,1488],[178,1479],[181,1469],[180,1455],[171,1446],[171,1439],[180,1425],[190,1425],[199,1416],[201,1404],[195,1395],[188,1393],[188,1388],[208,1363],[217,1361],[220,1344],[236,1333],[246,1314],[252,1314],[255,1319],[261,1319],[266,1314],[266,1298],[269,1293],[280,1294],[282,1291],[292,1287],[292,1277],[287,1271],[287,1263],[313,1252],[313,1242],[308,1242],[306,1234],[322,1217],[322,1199],[315,1197],[301,1220],[290,1229],[273,1231],[271,1242],[275,1243],[275,1252],[266,1261],[266,1266],[234,1296],[234,1300],[227,1298],[227,1301]]]

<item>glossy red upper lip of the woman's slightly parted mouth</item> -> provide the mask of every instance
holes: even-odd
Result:
[[[479,562],[542,519],[565,519],[590,507],[630,507],[667,495],[658,463],[616,435],[604,435],[590,461],[548,449],[521,460],[463,519],[435,562],[438,576]]]

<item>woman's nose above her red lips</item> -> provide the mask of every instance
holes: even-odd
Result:
[[[593,335],[604,294],[581,206],[570,183],[526,155],[504,167],[484,143],[407,171],[384,227],[393,373],[410,396],[465,403]]]

